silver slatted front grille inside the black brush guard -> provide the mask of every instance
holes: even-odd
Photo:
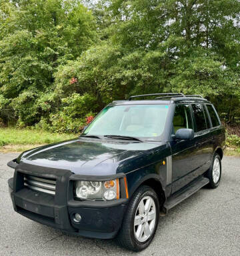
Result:
[[[25,175],[24,185],[34,191],[40,191],[43,193],[55,195],[55,190],[56,190],[55,179],[46,179],[41,177],[35,177],[32,175]]]

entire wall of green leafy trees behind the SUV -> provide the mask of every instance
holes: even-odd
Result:
[[[83,3],[1,0],[3,122],[77,133],[115,99],[172,91],[240,123],[238,0]]]

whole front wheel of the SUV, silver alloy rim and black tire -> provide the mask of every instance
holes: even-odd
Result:
[[[129,202],[117,236],[119,244],[131,251],[141,251],[147,248],[153,240],[158,221],[159,199],[157,194],[151,187],[143,185],[135,191]]]

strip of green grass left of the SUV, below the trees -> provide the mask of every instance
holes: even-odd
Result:
[[[49,143],[77,137],[75,134],[49,133],[32,129],[0,128],[0,151],[21,152]]]

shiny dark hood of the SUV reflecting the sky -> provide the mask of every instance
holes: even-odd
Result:
[[[79,138],[23,153],[18,161],[82,175],[112,175],[119,165],[163,143]]]

